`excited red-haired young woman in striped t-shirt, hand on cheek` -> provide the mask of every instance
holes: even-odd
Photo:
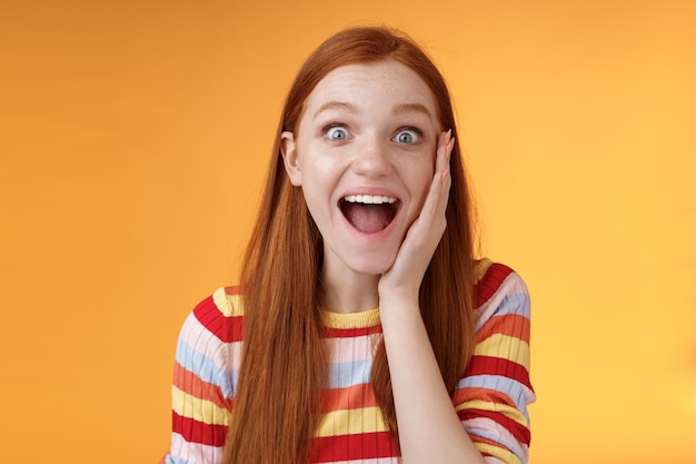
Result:
[[[451,102],[405,34],[299,71],[238,287],[183,325],[182,463],[525,463],[529,299],[473,251]]]

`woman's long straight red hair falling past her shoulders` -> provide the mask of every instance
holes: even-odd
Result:
[[[245,328],[239,383],[225,448],[226,464],[306,463],[327,384],[322,342],[321,236],[300,188],[290,185],[280,134],[295,131],[304,105],[331,70],[397,60],[416,71],[438,105],[440,127],[457,136],[449,91],[428,56],[407,36],[382,27],[329,38],[298,72],[282,110],[259,216],[241,269]],[[474,251],[470,199],[458,145],[443,235],[420,286],[420,310],[447,389],[453,394],[474,348]],[[371,384],[398,443],[384,343]]]

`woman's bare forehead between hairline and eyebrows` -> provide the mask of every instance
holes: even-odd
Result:
[[[395,60],[346,65],[334,69],[317,83],[307,101],[309,112],[327,101],[411,105],[419,103],[437,115],[437,103],[425,80]]]

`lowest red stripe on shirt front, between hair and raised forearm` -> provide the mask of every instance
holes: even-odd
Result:
[[[398,456],[389,432],[316,437],[312,441],[311,463],[372,460]]]

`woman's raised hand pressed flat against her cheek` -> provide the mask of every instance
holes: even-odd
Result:
[[[430,189],[420,215],[406,233],[394,265],[379,279],[380,302],[395,293],[418,300],[420,283],[447,227],[445,210],[451,186],[449,157],[454,146],[451,129],[439,135]]]

